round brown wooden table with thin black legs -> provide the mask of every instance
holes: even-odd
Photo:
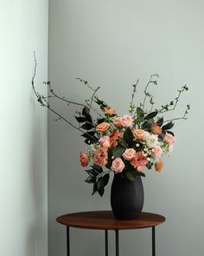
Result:
[[[136,220],[116,220],[112,211],[69,213],[58,217],[57,222],[67,226],[67,256],[70,256],[69,227],[105,230],[105,256],[108,256],[108,230],[116,235],[116,256],[119,255],[119,230],[152,228],[152,256],[156,256],[155,226],[165,218],[156,213],[142,213]]]

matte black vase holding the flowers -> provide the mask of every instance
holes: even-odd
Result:
[[[130,181],[114,174],[111,190],[112,213],[118,220],[139,218],[143,210],[143,182],[140,176]]]

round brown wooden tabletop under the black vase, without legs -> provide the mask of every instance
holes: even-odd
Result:
[[[142,213],[136,220],[116,220],[112,211],[69,213],[58,217],[57,222],[65,226],[87,229],[121,230],[157,226],[165,221],[162,215]]]

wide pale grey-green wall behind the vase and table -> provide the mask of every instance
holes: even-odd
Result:
[[[50,1],[49,79],[60,95],[83,101],[87,90],[75,77],[102,87],[100,96],[122,114],[131,98],[131,84],[159,73],[156,97],[169,102],[187,83],[188,121],[175,125],[175,151],[162,174],[143,179],[144,211],[162,213],[167,221],[156,229],[157,256],[202,256],[204,215],[203,1],[61,0]],[[138,95],[138,98],[140,96]],[[50,102],[51,103],[51,102]],[[63,115],[66,106],[54,104]],[[85,149],[80,135],[49,115],[48,188],[49,256],[66,255],[65,227],[55,222],[63,213],[110,209],[110,187],[101,199],[78,163]],[[111,235],[110,255],[114,255]],[[104,255],[104,233],[71,230],[72,255]],[[121,233],[121,255],[150,255],[150,230]]]

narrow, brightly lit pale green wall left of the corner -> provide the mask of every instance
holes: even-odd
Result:
[[[31,89],[48,73],[48,1],[0,1],[0,255],[48,255],[47,112]],[[42,89],[44,94],[46,90]]]

